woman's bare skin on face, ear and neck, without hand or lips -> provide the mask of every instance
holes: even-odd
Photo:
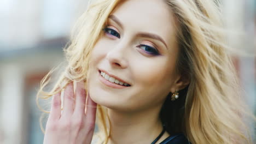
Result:
[[[162,130],[159,112],[167,94],[188,84],[174,73],[178,53],[174,18],[164,1],[155,0],[124,1],[109,17],[106,28],[113,30],[103,32],[92,51],[89,92],[92,100],[109,108],[109,143],[150,143]],[[139,33],[158,35],[166,45]],[[140,45],[156,48],[159,55]],[[99,80],[98,70],[131,86],[108,87]]]

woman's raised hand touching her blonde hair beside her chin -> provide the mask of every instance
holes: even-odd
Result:
[[[89,144],[95,127],[97,104],[87,95],[84,83],[78,82],[73,91],[73,83],[69,83],[63,96],[63,111],[61,113],[60,93],[53,96],[51,111],[46,123],[44,144]]]

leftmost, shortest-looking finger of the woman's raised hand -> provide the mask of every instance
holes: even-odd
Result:
[[[55,120],[59,119],[61,116],[61,92],[55,94],[53,96],[51,102],[51,111],[49,115],[49,119]]]

